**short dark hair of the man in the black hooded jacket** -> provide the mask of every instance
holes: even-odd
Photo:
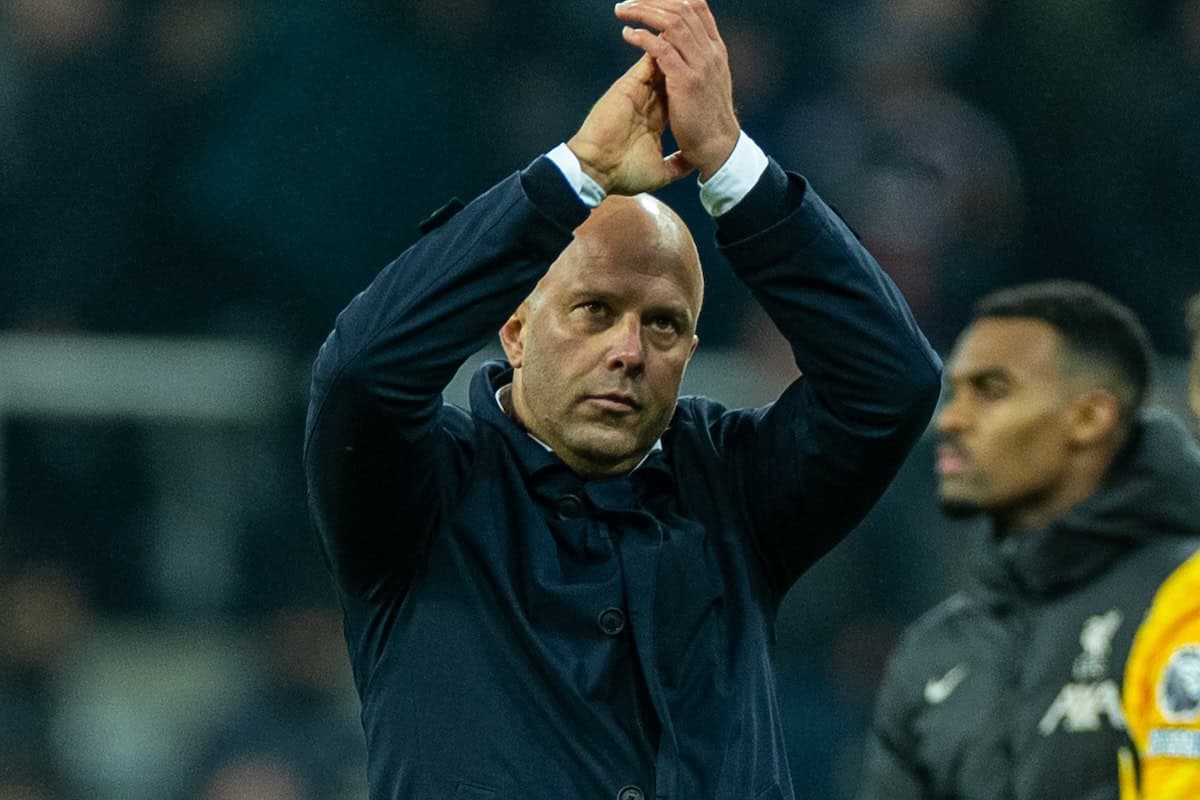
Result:
[[[1151,347],[1138,317],[1115,297],[1079,281],[1039,281],[1001,289],[976,305],[976,319],[1030,318],[1062,337],[1068,366],[1099,367],[1129,421],[1150,387]]]

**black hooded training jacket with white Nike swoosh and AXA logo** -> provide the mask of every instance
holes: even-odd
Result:
[[[982,536],[971,585],[906,632],[859,800],[1117,800],[1124,662],[1198,536],[1200,451],[1145,413],[1104,488],[1048,530]]]

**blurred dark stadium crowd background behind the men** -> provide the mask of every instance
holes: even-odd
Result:
[[[1085,279],[1182,408],[1200,0],[712,2],[744,127],[943,354],[982,294]],[[0,800],[366,798],[308,367],[420,219],[574,132],[618,31],[610,0],[0,0]],[[786,349],[695,186],[662,197],[708,269],[685,389],[769,399]],[[888,651],[960,583],[930,461],[785,603],[800,798],[848,796]]]

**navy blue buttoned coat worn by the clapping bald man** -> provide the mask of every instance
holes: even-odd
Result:
[[[678,403],[662,449],[583,481],[457,367],[587,217],[539,158],[390,264],[313,369],[310,505],[346,619],[371,798],[784,800],[787,588],[866,512],[941,365],[892,282],[772,163],[718,240],[804,377]],[[830,599],[836,602],[836,599]]]

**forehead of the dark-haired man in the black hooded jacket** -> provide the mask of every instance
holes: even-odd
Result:
[[[982,372],[1057,375],[1060,341],[1058,331],[1040,319],[986,317],[959,337],[948,372],[952,378]]]

